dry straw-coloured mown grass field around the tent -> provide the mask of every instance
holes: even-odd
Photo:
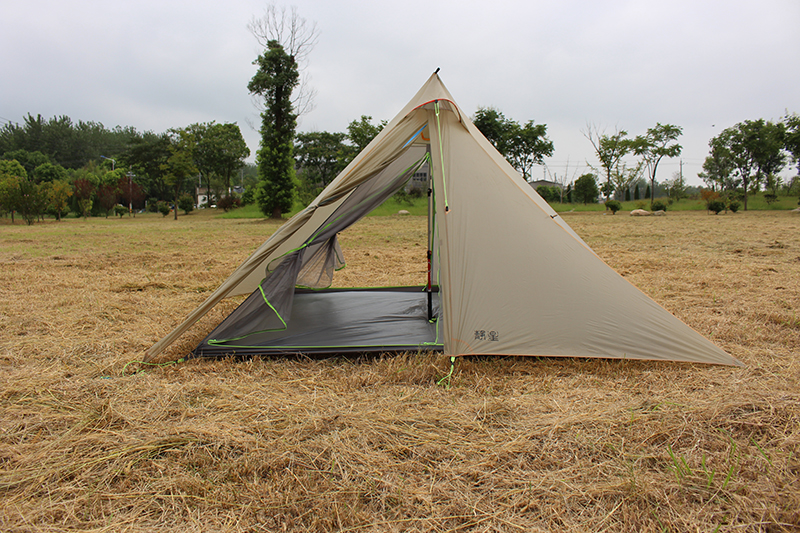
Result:
[[[0,220],[0,530],[800,530],[800,216],[564,217],[745,366],[464,358],[449,387],[432,354],[143,368],[277,226]],[[422,283],[424,232],[363,220],[337,284]]]

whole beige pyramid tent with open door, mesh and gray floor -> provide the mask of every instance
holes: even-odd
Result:
[[[344,265],[337,234],[425,164],[433,283],[327,289]],[[243,294],[250,296],[195,355],[430,349],[740,364],[606,265],[486,140],[436,73],[145,360],[220,300]]]

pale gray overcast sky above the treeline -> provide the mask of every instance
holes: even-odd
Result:
[[[255,0],[25,0],[0,18],[0,123],[27,113],[156,133],[236,122],[258,147],[247,92],[261,52]],[[284,4],[277,4],[284,5]],[[300,131],[391,119],[430,74],[469,115],[494,106],[548,127],[569,175],[595,164],[583,135],[681,126],[684,175],[708,140],[747,119],[800,112],[800,2],[298,0],[319,40]],[[252,160],[252,157],[251,157]],[[662,163],[658,180],[679,168]],[[534,177],[541,170],[534,170]]]

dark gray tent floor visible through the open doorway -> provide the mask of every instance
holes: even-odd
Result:
[[[436,317],[439,314],[438,292],[431,297],[433,316]],[[269,312],[269,308],[264,307],[265,312]],[[253,332],[224,342],[211,339],[215,339],[213,331],[193,355],[219,357],[442,349],[437,339],[436,321],[428,320],[428,294],[422,287],[297,290],[285,329]]]

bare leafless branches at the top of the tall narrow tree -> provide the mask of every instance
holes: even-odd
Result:
[[[308,55],[319,38],[317,23],[308,22],[301,17],[294,6],[287,11],[286,7],[270,4],[261,17],[254,16],[250,20],[247,29],[265,49],[270,41],[278,41],[286,53],[294,58],[300,73],[300,83],[292,94],[292,106],[298,116],[310,113],[314,109],[317,92],[310,86],[306,68]],[[259,112],[263,112],[262,100],[253,98],[253,104]]]

